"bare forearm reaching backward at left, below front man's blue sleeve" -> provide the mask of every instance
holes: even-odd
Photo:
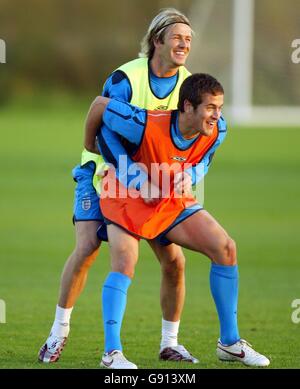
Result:
[[[99,154],[96,136],[102,123],[102,116],[110,99],[97,96],[92,102],[85,122],[84,147],[91,153]]]

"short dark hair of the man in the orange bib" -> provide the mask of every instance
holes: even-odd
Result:
[[[184,112],[184,101],[188,100],[194,109],[202,103],[205,93],[211,95],[223,95],[224,89],[220,82],[210,74],[195,73],[186,78],[179,91],[178,109]]]

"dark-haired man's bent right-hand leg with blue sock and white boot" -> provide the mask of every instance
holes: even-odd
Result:
[[[239,336],[238,270],[234,241],[204,210],[175,226],[166,237],[176,244],[205,254],[212,261],[210,287],[220,321],[219,358],[223,360],[226,355],[226,360],[238,360],[251,366],[267,366],[269,360],[251,349]]]

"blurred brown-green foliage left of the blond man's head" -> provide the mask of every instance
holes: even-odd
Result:
[[[186,12],[190,3],[172,5]],[[7,47],[0,99],[51,90],[95,95],[112,70],[137,56],[164,6],[159,0],[0,0],[0,38]]]

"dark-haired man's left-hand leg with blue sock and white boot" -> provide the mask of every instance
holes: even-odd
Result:
[[[138,260],[138,241],[121,228],[107,226],[112,272],[102,290],[104,355],[100,366],[110,369],[136,369],[122,353],[121,327],[127,304],[127,290]]]

